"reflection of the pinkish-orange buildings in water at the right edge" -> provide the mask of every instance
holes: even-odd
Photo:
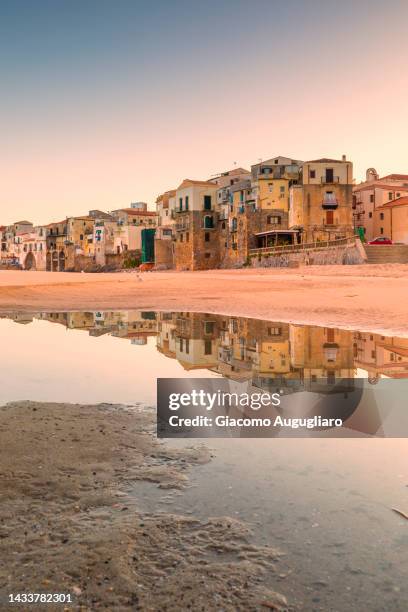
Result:
[[[372,382],[383,376],[408,378],[408,338],[356,332],[353,354],[355,367],[365,370]]]

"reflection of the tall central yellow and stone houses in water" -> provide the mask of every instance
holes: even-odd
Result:
[[[162,317],[158,348],[188,370],[209,369],[261,388],[354,378],[349,331],[199,313]]]

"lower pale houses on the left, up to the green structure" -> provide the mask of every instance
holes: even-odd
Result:
[[[145,202],[44,226],[18,221],[0,227],[0,266],[56,272],[122,267],[131,256],[140,263],[153,247],[156,225],[157,215]]]

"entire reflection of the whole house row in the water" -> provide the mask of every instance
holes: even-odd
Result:
[[[157,350],[187,371],[207,369],[262,389],[316,388],[353,379],[356,369],[372,382],[408,378],[408,339],[206,313],[102,311],[13,314],[59,323],[92,336],[111,334]]]

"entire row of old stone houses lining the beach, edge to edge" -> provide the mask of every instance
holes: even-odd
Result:
[[[250,170],[185,179],[156,211],[137,202],[46,226],[0,227],[0,267],[104,270],[149,262],[156,269],[240,267],[275,246],[340,244],[387,236],[408,243],[408,175],[370,168],[355,185],[342,159],[274,157]]]

